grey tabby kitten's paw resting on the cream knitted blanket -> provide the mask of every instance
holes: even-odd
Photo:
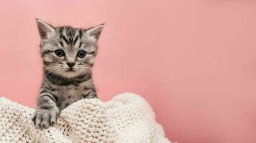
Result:
[[[59,114],[60,112],[57,108],[37,109],[34,117],[32,118],[32,121],[37,128],[45,129],[55,124]]]

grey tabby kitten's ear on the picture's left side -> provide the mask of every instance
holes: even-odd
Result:
[[[55,29],[53,26],[40,19],[36,19],[36,21],[41,39],[47,39],[50,34],[55,34]]]

